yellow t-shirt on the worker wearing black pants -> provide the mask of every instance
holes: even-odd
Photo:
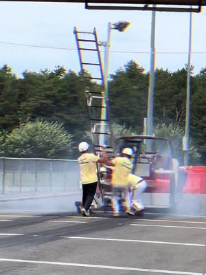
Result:
[[[84,153],[78,157],[80,164],[80,178],[81,184],[92,184],[98,181],[97,166],[99,157],[92,153]]]

